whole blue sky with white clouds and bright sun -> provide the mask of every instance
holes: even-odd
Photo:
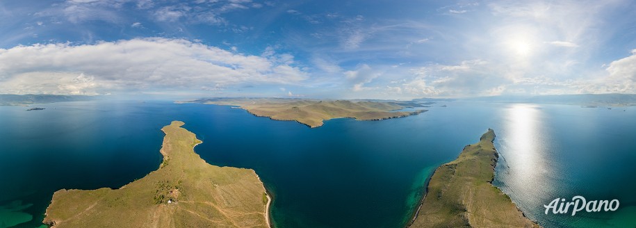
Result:
[[[636,1],[0,0],[0,94],[636,93]]]

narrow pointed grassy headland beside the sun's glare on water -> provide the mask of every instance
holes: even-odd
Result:
[[[491,184],[498,154],[489,129],[435,170],[411,227],[539,227]]]

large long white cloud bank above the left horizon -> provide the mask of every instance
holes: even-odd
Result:
[[[33,44],[0,49],[0,93],[94,95],[307,79],[292,63],[289,54],[250,56],[166,38]]]

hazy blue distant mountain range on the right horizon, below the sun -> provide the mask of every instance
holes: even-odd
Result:
[[[585,95],[541,95],[534,97],[523,96],[493,96],[475,97],[463,100],[489,101],[501,103],[535,103],[535,104],[574,104],[585,106],[634,106],[636,95],[633,94],[585,94]]]

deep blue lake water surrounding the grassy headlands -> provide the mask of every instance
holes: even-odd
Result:
[[[434,104],[382,121],[310,129],[237,108],[152,101],[0,106],[0,228],[39,227],[60,188],[117,188],[161,163],[172,120],[204,141],[208,163],[256,170],[277,227],[403,227],[425,179],[495,130],[494,184],[544,227],[636,226],[636,108]],[[614,212],[544,214],[557,197],[619,199]]]

